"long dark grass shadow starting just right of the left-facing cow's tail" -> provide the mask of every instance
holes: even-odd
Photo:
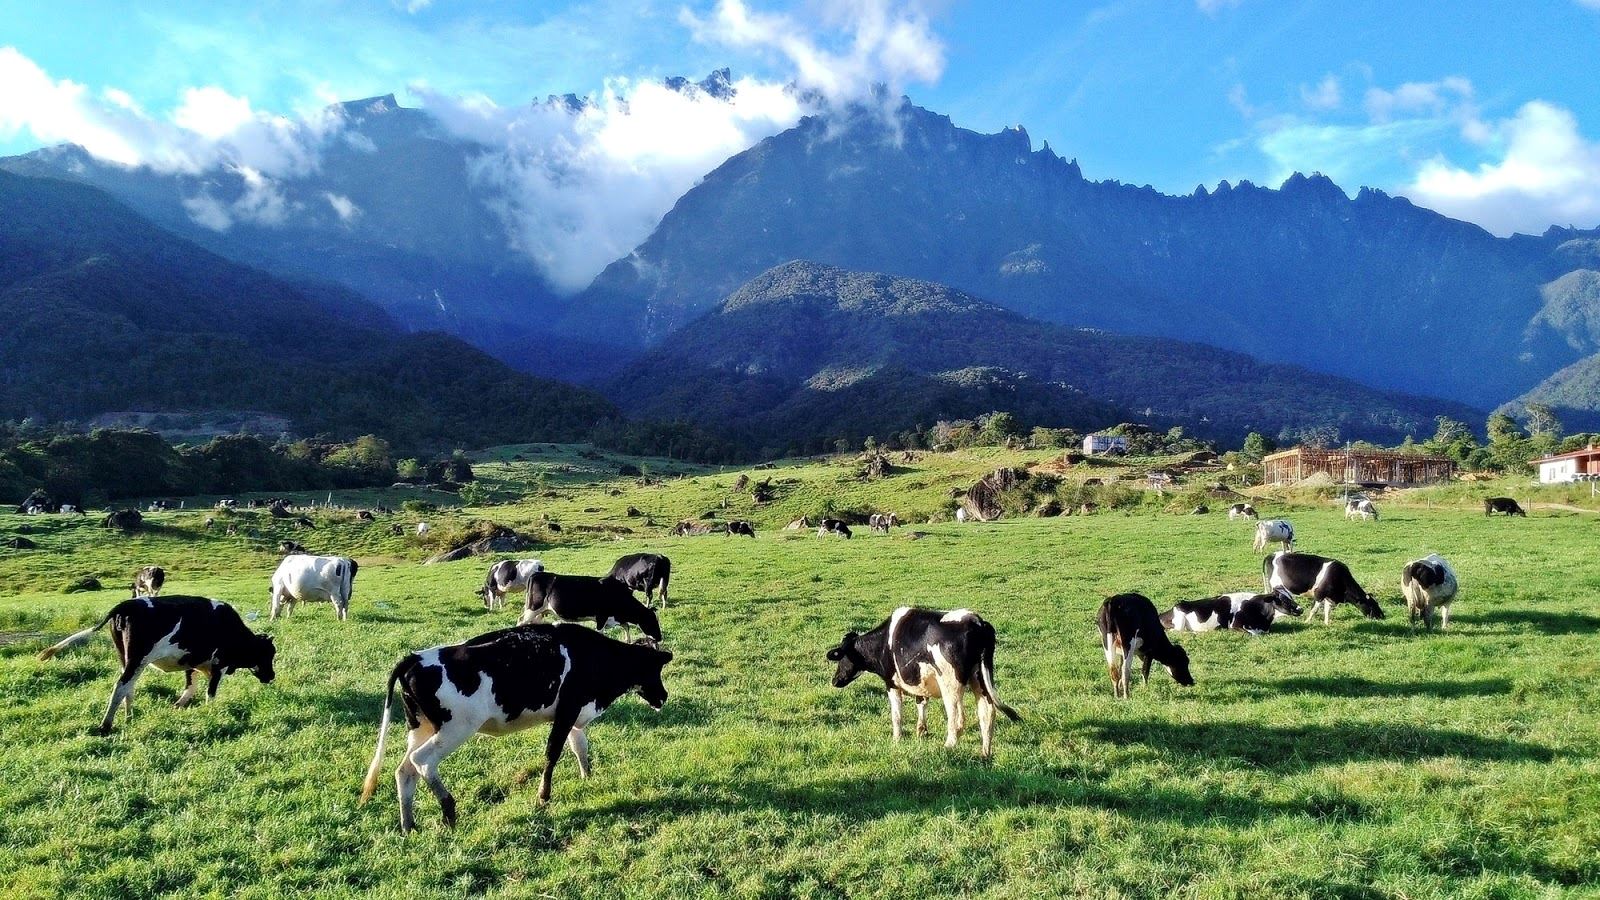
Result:
[[[1259,722],[1166,722],[1099,719],[1080,725],[1110,745],[1144,745],[1198,765],[1250,765],[1270,772],[1302,772],[1318,765],[1432,756],[1490,762],[1549,762],[1555,753],[1536,743],[1483,737],[1453,729],[1403,724],[1262,725]]]

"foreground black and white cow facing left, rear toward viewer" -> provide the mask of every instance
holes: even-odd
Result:
[[[890,695],[890,729],[901,738],[901,697],[917,700],[917,737],[928,733],[928,698],[944,701],[944,746],[966,730],[966,690],[978,697],[978,733],[982,756],[994,756],[995,709],[1018,721],[1016,709],[995,692],[995,629],[973,610],[938,612],[899,607],[866,634],[850,631],[827,652],[838,663],[834,687],[861,673],[883,679]]]

